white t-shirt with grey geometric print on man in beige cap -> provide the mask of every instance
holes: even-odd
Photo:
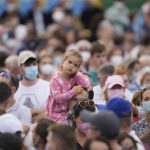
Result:
[[[49,92],[48,81],[38,79],[38,82],[32,86],[24,86],[20,82],[14,99],[28,108],[45,108]]]

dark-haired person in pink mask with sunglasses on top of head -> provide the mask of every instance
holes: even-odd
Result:
[[[72,119],[75,126],[75,135],[77,141],[76,150],[83,150],[83,146],[87,140],[89,124],[81,121],[79,117],[80,112],[84,109],[94,112],[95,111],[94,101],[88,99],[78,100],[76,101],[76,104],[72,109]]]

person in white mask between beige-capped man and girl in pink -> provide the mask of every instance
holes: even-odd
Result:
[[[39,77],[43,80],[50,81],[55,71],[56,68],[53,65],[52,56],[50,53],[45,52],[45,54],[39,58]]]

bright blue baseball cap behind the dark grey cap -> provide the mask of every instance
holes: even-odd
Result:
[[[109,99],[106,109],[113,111],[119,118],[130,118],[132,113],[130,102],[121,97]]]

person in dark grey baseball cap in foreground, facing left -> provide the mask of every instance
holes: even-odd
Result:
[[[88,111],[81,112],[81,120],[90,123],[88,137],[104,137],[109,140],[112,150],[121,150],[121,146],[117,142],[117,136],[120,130],[118,117],[111,111],[102,111],[98,113],[90,113]]]

